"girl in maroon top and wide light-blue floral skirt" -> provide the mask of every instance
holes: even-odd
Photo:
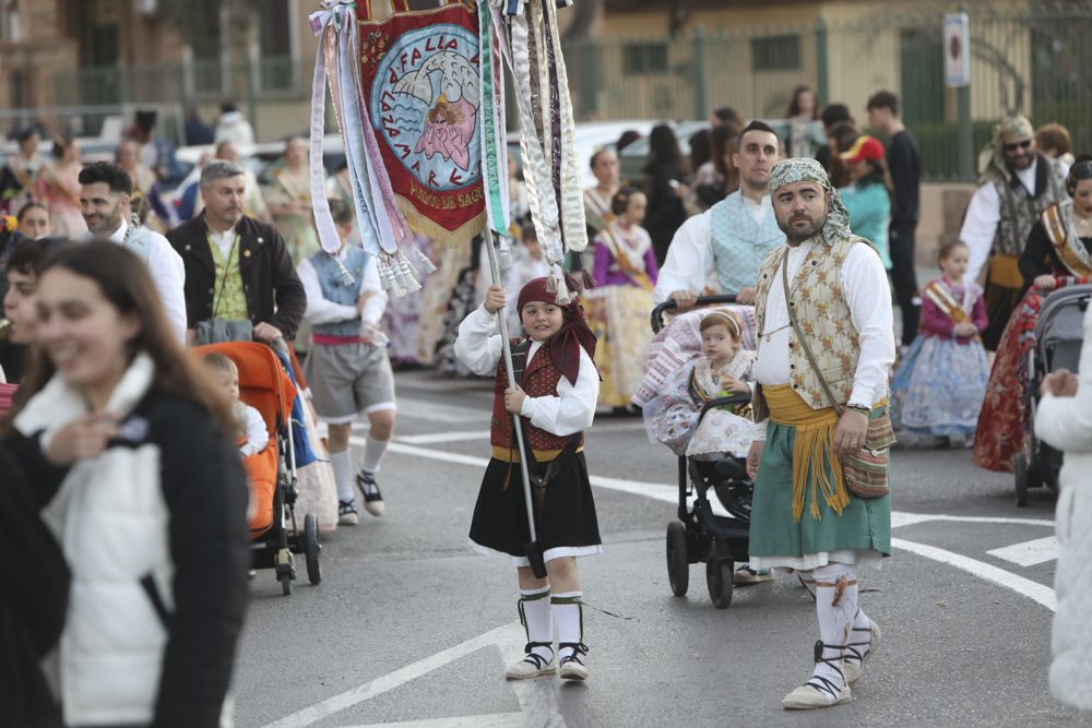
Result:
[[[943,275],[922,289],[917,337],[891,383],[897,427],[953,446],[971,443],[986,396],[989,361],[980,333],[988,325],[982,288],[964,281],[970,249],[940,249]]]

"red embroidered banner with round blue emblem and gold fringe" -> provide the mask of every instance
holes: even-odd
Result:
[[[399,210],[436,240],[485,224],[478,23],[462,4],[359,21],[360,86]]]

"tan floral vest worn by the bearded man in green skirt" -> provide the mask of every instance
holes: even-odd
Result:
[[[853,392],[853,377],[857,371],[857,358],[860,354],[857,332],[853,327],[850,307],[842,296],[840,282],[845,256],[858,242],[867,244],[863,238],[857,237],[832,244],[821,240],[817,242],[808,252],[796,278],[790,281],[790,290],[785,296],[823,378],[838,398],[835,404],[839,407],[845,406]],[[788,248],[784,247],[770,253],[759,271],[755,301],[755,320],[759,332],[765,331],[767,297],[773,281],[782,276],[781,266],[787,251]],[[762,346],[761,337],[758,346]],[[788,331],[788,383],[808,406],[812,409],[831,406],[796,332],[792,329]],[[755,403],[755,420],[760,421],[765,416],[765,403],[759,397]]]

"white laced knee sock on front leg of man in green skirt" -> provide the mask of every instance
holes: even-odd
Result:
[[[842,652],[857,613],[857,570],[831,563],[814,570],[811,577],[815,578],[816,616],[819,618],[819,640],[823,647],[817,655],[822,659],[816,663],[808,684],[834,702],[845,683]]]

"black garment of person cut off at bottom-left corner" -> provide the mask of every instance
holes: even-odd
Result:
[[[69,570],[38,516],[32,486],[0,445],[0,725],[60,726],[39,663],[57,645],[68,607]]]

